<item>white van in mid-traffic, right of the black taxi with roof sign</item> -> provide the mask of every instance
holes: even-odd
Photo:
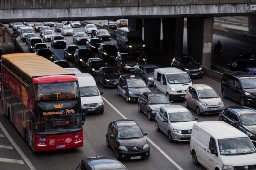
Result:
[[[187,72],[175,67],[158,68],[154,71],[154,89],[169,100],[183,100],[192,81]]]

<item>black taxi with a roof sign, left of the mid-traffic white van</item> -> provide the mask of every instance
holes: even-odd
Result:
[[[125,97],[126,102],[137,102],[140,95],[149,92],[145,82],[135,75],[121,75],[117,81],[117,95]]]

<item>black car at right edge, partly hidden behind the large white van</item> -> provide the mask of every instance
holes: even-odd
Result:
[[[247,134],[256,146],[256,110],[249,107],[227,107],[220,113],[219,121],[224,121]]]

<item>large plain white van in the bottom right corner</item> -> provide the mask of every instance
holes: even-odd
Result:
[[[256,149],[242,131],[223,121],[195,123],[190,140],[193,163],[208,170],[254,170]]]

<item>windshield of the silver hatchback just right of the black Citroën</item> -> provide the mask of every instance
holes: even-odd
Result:
[[[190,112],[169,113],[170,122],[195,121]]]

